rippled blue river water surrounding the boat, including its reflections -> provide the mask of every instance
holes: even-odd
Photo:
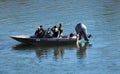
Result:
[[[120,0],[0,0],[0,74],[119,74]],[[82,22],[92,46],[23,45],[11,35],[33,35],[63,24],[75,33]]]

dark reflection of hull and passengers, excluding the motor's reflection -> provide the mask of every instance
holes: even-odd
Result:
[[[65,50],[73,50],[76,49],[76,45],[67,45],[67,46],[32,46],[26,44],[19,44],[13,47],[15,50],[34,50],[38,58],[44,58],[52,53],[54,55],[54,59],[63,59]]]

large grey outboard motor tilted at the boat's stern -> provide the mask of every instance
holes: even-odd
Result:
[[[81,36],[83,36],[85,41],[89,41],[88,38],[91,37],[91,34],[87,33],[87,27],[83,23],[78,23],[75,27],[76,33],[79,35],[79,40],[81,39]]]

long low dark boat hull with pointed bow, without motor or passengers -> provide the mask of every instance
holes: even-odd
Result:
[[[15,35],[12,39],[25,44],[32,45],[70,45],[76,44],[76,37],[62,36],[60,38],[32,38],[29,35]]]

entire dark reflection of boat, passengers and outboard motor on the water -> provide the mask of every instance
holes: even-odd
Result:
[[[65,45],[65,46],[32,46],[26,44],[18,44],[13,47],[15,50],[34,50],[39,59],[53,57],[55,60],[64,59],[64,55],[68,54],[66,51],[75,51],[77,57],[84,58],[86,56],[86,50],[89,43],[81,43],[79,46],[76,45]],[[28,52],[28,51],[27,51]],[[66,52],[66,53],[65,53]]]

